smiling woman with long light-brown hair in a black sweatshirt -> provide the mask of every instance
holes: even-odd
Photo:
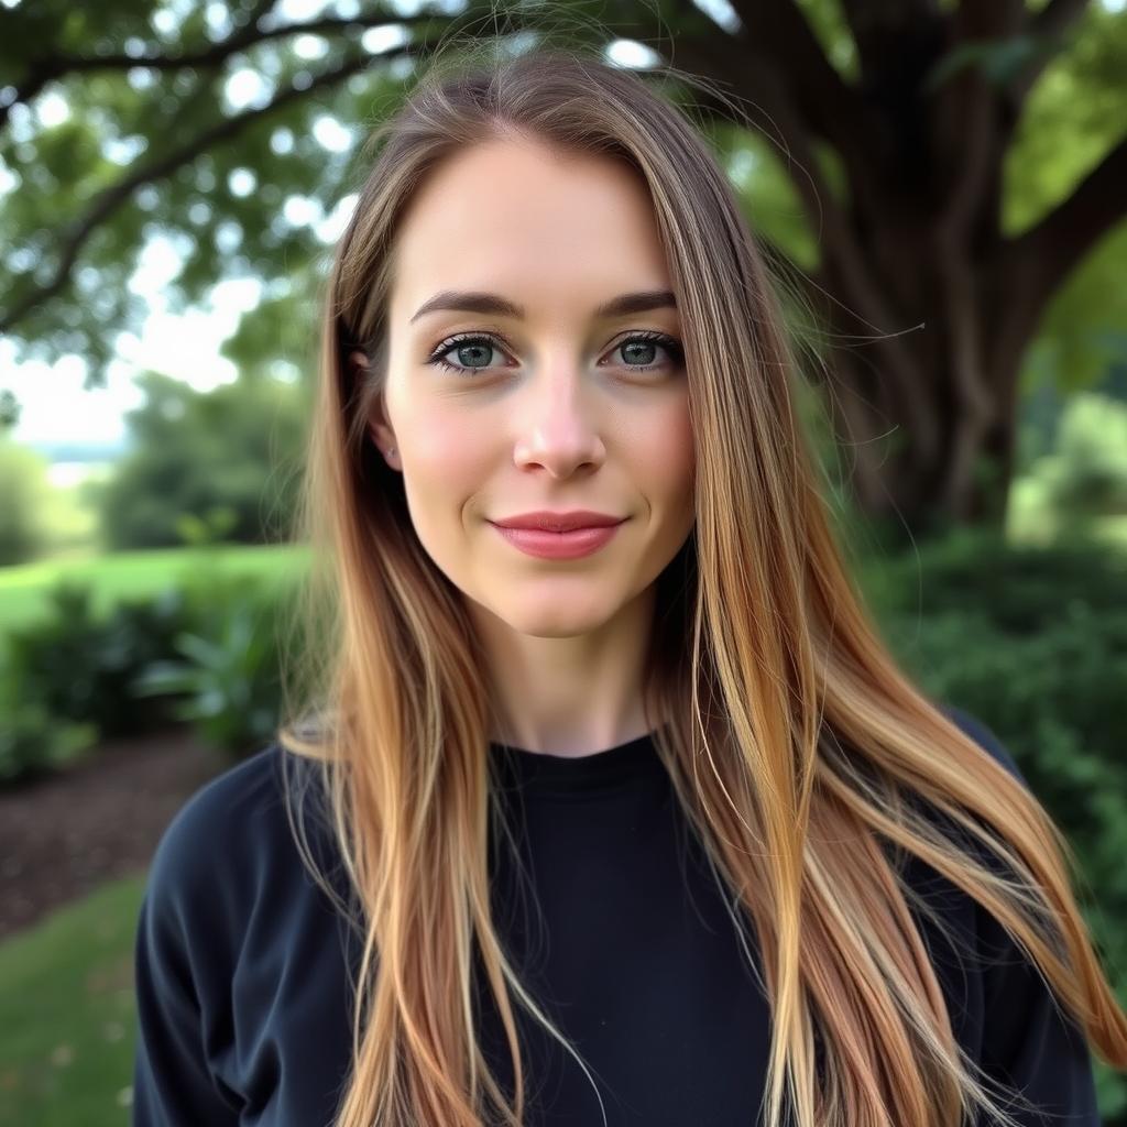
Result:
[[[694,127],[540,48],[379,140],[319,707],[157,852],[134,1124],[1097,1124],[1067,845],[878,640]]]

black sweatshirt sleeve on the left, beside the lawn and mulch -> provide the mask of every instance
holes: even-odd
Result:
[[[221,905],[199,872],[197,807],[185,808],[153,857],[134,943],[136,1053],[132,1127],[238,1127],[242,1101],[210,1066],[223,1003]],[[187,815],[187,816],[186,816]],[[190,940],[189,940],[190,934]]]

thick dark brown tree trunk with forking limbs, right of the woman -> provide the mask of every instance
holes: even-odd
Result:
[[[817,236],[815,276],[787,273],[806,283],[829,334],[823,390],[846,485],[905,539],[1002,526],[1023,354],[1055,290],[1127,212],[1125,141],[1033,228],[1001,228],[1021,107],[1085,0],[1036,14],[1023,0],[946,11],[933,0],[842,0],[855,83],[795,0],[733,7],[740,27],[686,24],[676,61],[738,97],[738,114],[724,98],[698,105],[778,147]],[[1008,72],[987,65],[992,52]],[[824,177],[818,145],[841,161],[844,193]]]

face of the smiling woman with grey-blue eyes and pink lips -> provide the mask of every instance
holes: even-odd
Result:
[[[598,308],[672,289],[642,181],[606,158],[476,145],[412,198],[393,277],[371,429],[403,474],[423,547],[472,603],[521,633],[610,624],[694,520],[672,296],[635,311]],[[554,536],[550,558],[494,523],[576,509],[623,523],[586,554],[574,547],[584,534],[525,538]],[[586,535],[589,548],[597,534]]]

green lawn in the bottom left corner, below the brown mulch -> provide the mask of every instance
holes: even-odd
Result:
[[[113,881],[0,943],[0,1127],[128,1121],[143,890]]]

